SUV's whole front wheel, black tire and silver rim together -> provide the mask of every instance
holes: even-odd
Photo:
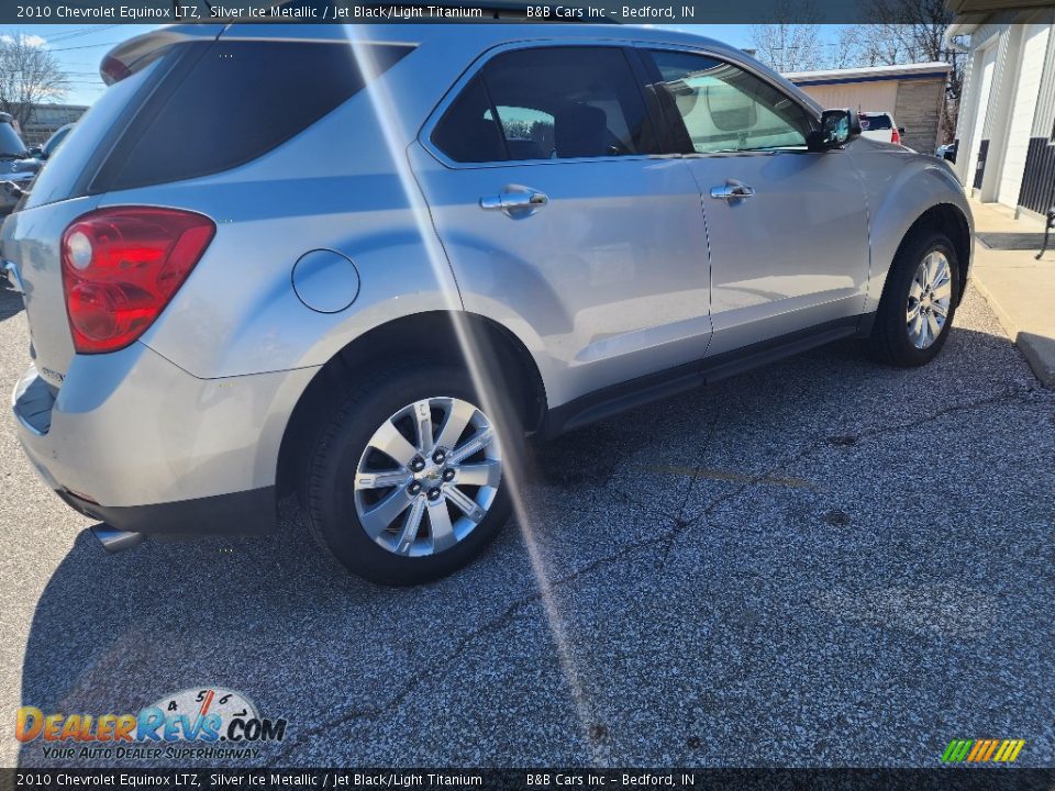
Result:
[[[945,345],[959,301],[959,259],[945,234],[923,230],[910,236],[887,275],[873,353],[891,365],[930,363]]]

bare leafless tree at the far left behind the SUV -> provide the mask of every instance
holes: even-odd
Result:
[[[66,73],[40,40],[0,34],[0,110],[25,125],[34,104],[62,99],[66,91]]]

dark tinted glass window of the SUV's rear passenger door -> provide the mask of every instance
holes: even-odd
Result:
[[[458,163],[657,153],[644,100],[615,47],[498,55],[451,104],[432,142]]]

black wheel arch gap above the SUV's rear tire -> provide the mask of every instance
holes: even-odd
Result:
[[[425,356],[470,367],[462,338],[479,357],[485,376],[509,383],[514,406],[529,433],[537,431],[547,410],[545,382],[524,343],[498,322],[475,313],[426,311],[395,319],[359,335],[319,369],[293,406],[282,434],[276,483],[280,493],[297,486],[298,474],[313,446],[319,415],[329,414],[336,397],[357,370],[399,355]]]

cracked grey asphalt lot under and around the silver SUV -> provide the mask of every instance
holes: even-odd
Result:
[[[2,291],[4,387],[26,349]],[[1055,393],[975,291],[924,369],[842,343],[541,448],[523,523],[415,589],[344,575],[292,502],[108,556],[7,409],[0,481],[5,766],[56,764],[19,705],[216,684],[288,718],[259,765],[1055,764]]]

